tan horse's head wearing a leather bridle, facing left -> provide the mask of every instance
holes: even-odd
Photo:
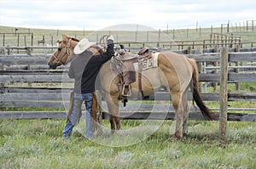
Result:
[[[56,69],[58,66],[66,65],[70,62],[74,57],[73,48],[75,48],[78,42],[79,39],[62,35],[62,41],[58,41],[58,49],[49,58],[49,68]]]

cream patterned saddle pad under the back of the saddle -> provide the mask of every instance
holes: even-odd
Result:
[[[143,70],[148,70],[150,68],[154,68],[157,67],[158,65],[158,55],[160,53],[154,53],[152,54],[152,58],[151,59],[144,59],[143,60]],[[134,69],[136,71],[138,71],[138,62],[134,63]]]

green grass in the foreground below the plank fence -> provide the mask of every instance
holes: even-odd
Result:
[[[255,123],[229,122],[226,146],[220,146],[217,121],[189,121],[189,136],[184,141],[170,137],[172,123],[164,121],[157,132],[137,144],[113,147],[84,138],[80,124],[71,138],[64,139],[65,121],[1,120],[0,164],[2,168],[256,167]],[[140,124],[124,121],[123,126]],[[100,137],[108,142],[124,138],[120,134]]]

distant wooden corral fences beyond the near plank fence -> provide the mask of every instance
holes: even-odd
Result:
[[[216,35],[216,34],[214,34]],[[229,47],[230,52],[236,51],[237,46],[241,48],[241,52],[254,52],[256,50],[256,42],[241,42],[240,39],[232,39],[230,37],[225,37],[223,35],[222,38],[212,38],[207,40],[191,40],[191,41],[171,41],[171,42],[117,42],[119,44],[125,45],[125,48],[128,49],[129,52],[137,52],[141,48],[150,48],[154,51],[183,51],[183,54],[189,50],[192,50],[192,54],[201,54],[201,51],[214,51],[214,48],[220,47]],[[242,48],[243,45],[248,45],[250,48]],[[28,55],[37,55],[38,52],[36,50],[40,50],[40,54],[52,54],[54,50],[58,48],[57,46],[8,46],[8,47],[0,47],[0,54],[28,54]]]

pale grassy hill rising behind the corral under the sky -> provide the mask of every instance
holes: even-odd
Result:
[[[203,41],[211,38],[212,33],[223,33],[229,36],[241,37],[241,42],[256,42],[256,29],[247,30],[245,26],[154,30],[143,25],[126,25],[130,29],[125,31],[124,25],[108,27],[98,31],[67,31],[31,29],[23,27],[0,26],[0,46],[38,46],[38,41],[45,40],[45,46],[55,45],[61,40],[61,34],[82,39],[88,37],[90,41],[99,42],[103,35],[112,34],[116,42],[172,42],[172,41]],[[42,45],[42,44],[40,44]],[[244,46],[246,47],[246,46]],[[247,45],[251,47],[251,43]]]

